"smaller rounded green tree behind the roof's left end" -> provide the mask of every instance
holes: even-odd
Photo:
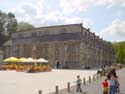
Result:
[[[27,23],[27,22],[20,22],[18,23],[18,31],[30,30],[33,29],[34,26]]]

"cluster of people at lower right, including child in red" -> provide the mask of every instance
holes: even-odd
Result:
[[[104,82],[102,82],[103,86],[103,94],[119,94],[120,89],[119,89],[119,81],[118,81],[118,76],[116,74],[116,65],[113,64],[111,66],[111,69],[106,70],[106,78]]]

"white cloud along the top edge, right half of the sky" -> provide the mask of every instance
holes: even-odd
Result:
[[[77,11],[86,11],[88,8],[105,5],[111,6],[125,6],[124,0],[60,0],[59,6],[62,8],[63,13],[71,14]]]

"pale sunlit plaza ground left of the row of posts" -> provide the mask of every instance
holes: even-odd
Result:
[[[60,89],[67,86],[67,82],[75,85],[76,76],[91,76],[96,70],[55,70],[52,72],[24,73],[16,71],[0,71],[0,94],[43,94],[55,91],[55,86]]]

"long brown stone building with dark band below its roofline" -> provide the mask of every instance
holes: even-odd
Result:
[[[115,51],[82,24],[40,27],[12,35],[12,46],[4,47],[7,56],[45,58],[54,65],[84,68],[100,67],[116,61]]]

